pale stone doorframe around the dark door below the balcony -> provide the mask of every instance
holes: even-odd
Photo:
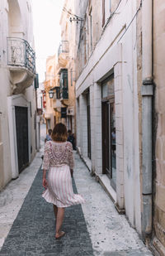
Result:
[[[10,138],[10,150],[11,150],[11,166],[12,166],[12,179],[16,179],[19,176],[18,171],[18,157],[17,157],[17,142],[16,142],[16,114],[15,106],[26,107],[28,110],[28,151],[29,162],[31,162],[31,106],[23,94],[17,94],[7,97],[8,106],[8,126],[9,126],[9,138]]]

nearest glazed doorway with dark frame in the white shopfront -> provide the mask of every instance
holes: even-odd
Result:
[[[116,190],[115,93],[113,75],[101,83],[101,90],[102,173],[110,178],[111,186]]]

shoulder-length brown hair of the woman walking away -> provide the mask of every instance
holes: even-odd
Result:
[[[67,128],[64,123],[57,123],[54,126],[51,138],[55,142],[66,142],[68,138]]]

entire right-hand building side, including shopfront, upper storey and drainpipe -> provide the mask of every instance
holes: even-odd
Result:
[[[163,1],[150,0],[76,0],[70,11],[77,23],[78,151],[119,213],[161,256],[164,17]]]

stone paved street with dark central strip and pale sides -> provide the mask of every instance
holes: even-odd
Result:
[[[41,197],[42,172],[35,169],[41,164],[41,153],[42,150],[31,166],[0,194],[0,255],[152,255],[125,215],[118,215],[111,199],[95,177],[90,176],[77,153],[73,188],[85,197],[86,204],[66,209],[63,229],[67,234],[56,241],[53,207]]]

